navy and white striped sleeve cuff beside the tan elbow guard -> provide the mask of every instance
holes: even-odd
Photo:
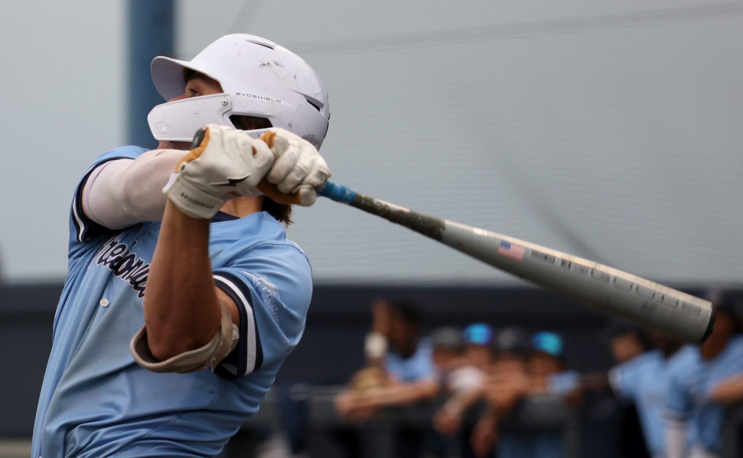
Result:
[[[215,271],[213,275],[215,285],[235,301],[240,314],[240,339],[237,347],[214,370],[223,379],[234,380],[259,370],[263,364],[258,322],[250,304],[250,288],[244,280],[221,270]]]

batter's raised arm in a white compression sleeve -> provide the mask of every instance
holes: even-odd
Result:
[[[163,218],[168,182],[186,151],[147,151],[134,160],[118,159],[99,166],[85,183],[82,209],[110,229]]]

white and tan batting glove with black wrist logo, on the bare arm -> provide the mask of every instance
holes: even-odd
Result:
[[[262,140],[210,124],[196,135],[163,193],[186,215],[210,219],[227,200],[261,194],[256,185],[272,165],[273,152]]]

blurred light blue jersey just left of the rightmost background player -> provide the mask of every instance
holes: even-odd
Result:
[[[686,346],[666,359],[661,350],[649,350],[609,371],[614,392],[635,402],[646,445],[654,457],[666,453],[664,415],[669,372],[672,367],[690,364],[694,352],[694,347]]]

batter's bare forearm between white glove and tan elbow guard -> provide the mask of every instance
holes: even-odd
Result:
[[[164,360],[207,344],[221,311],[209,260],[209,220],[168,202],[144,295],[149,348]]]

